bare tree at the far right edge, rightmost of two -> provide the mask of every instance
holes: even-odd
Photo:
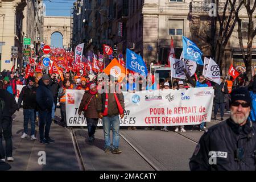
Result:
[[[234,10],[234,13],[236,15],[236,19],[238,22],[238,39],[239,39],[239,44],[242,52],[243,62],[245,63],[245,67],[246,67],[246,75],[249,78],[249,80],[251,80],[251,76],[252,76],[251,75],[251,59],[252,59],[252,52],[253,52],[253,39],[256,35],[256,28],[253,27],[253,13],[256,8],[256,0],[254,0],[253,5],[251,5],[250,0],[242,0],[241,2],[245,6],[245,9],[247,12],[247,18],[248,18],[248,31],[246,32],[247,33],[247,36],[246,36],[247,51],[245,51],[245,48],[243,47],[242,20],[239,16],[239,12],[234,10],[234,5],[232,6],[232,9]]]

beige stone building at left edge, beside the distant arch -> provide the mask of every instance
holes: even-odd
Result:
[[[23,38],[42,38],[41,0],[0,1],[0,61],[1,68],[10,70],[13,65],[23,66]],[[18,47],[18,58],[12,58],[11,47]]]

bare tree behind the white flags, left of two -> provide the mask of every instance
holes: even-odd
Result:
[[[229,38],[233,33],[234,27],[236,26],[237,16],[235,15],[235,12],[239,12],[243,4],[243,2],[239,2],[238,6],[236,7],[236,3],[236,0],[226,0],[225,5],[222,9],[222,7],[219,7],[221,3],[216,0],[217,18],[214,22],[214,31],[216,32],[216,38],[213,40],[213,53],[215,52],[214,59],[216,60],[216,63],[220,66],[220,70],[222,70],[221,66],[224,57],[225,47],[228,44]],[[230,7],[232,8],[229,11]],[[219,12],[220,9],[221,12]]]

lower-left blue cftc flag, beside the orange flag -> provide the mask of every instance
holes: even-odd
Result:
[[[126,49],[126,68],[147,76],[147,66],[140,55]]]

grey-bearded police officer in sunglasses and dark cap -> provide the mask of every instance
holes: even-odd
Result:
[[[255,171],[256,126],[247,118],[251,98],[245,87],[231,93],[230,118],[209,128],[189,162],[191,170]]]

